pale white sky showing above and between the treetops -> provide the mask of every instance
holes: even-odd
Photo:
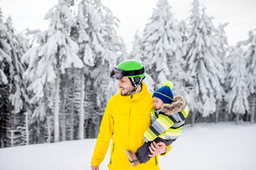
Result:
[[[102,4],[109,7],[114,16],[119,18],[117,33],[122,36],[128,50],[132,47],[132,40],[136,30],[142,34],[145,24],[149,21],[153,8],[158,0],[102,0]],[[256,28],[255,0],[199,0],[206,6],[208,16],[214,16],[213,22],[230,23],[226,27],[230,45],[240,40],[246,40],[248,31]],[[169,0],[176,19],[188,18],[192,0]],[[48,10],[58,3],[58,0],[0,0],[4,17],[11,16],[14,28],[23,29],[48,28],[49,21],[43,18]]]

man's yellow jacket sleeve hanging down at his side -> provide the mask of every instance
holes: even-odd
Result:
[[[110,145],[110,139],[112,138],[113,126],[112,106],[111,101],[109,101],[100,124],[100,133],[97,136],[97,142],[90,163],[92,166],[99,166],[105,158],[105,154]]]

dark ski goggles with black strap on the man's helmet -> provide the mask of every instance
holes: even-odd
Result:
[[[144,73],[144,67],[142,69],[124,71],[122,69],[113,68],[110,72],[110,77],[113,79],[122,79],[123,77],[137,76]]]

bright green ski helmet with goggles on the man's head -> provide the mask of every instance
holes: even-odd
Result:
[[[114,79],[122,79],[129,77],[132,85],[137,87],[145,78],[144,67],[142,63],[136,60],[125,60],[117,65],[117,68],[112,69],[110,77]]]

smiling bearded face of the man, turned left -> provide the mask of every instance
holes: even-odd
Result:
[[[128,77],[123,77],[122,79],[118,80],[118,87],[121,91],[121,96],[129,96],[132,94],[134,90],[134,86],[132,86],[131,81],[129,81]]]

